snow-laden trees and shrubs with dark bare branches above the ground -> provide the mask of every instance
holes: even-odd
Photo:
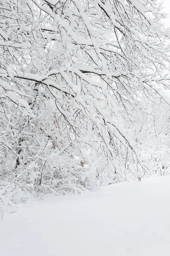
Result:
[[[157,0],[0,1],[0,215],[170,174],[170,32]]]

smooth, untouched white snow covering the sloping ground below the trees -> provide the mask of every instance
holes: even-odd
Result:
[[[170,177],[34,201],[0,221],[2,256],[169,256]]]

